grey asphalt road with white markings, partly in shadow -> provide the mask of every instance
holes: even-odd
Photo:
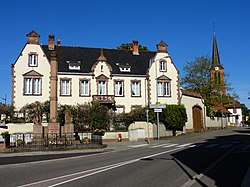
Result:
[[[229,128],[119,151],[3,164],[0,186],[237,187],[249,165],[250,129]]]

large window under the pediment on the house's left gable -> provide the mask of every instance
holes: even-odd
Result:
[[[41,95],[41,78],[24,78],[24,95]]]

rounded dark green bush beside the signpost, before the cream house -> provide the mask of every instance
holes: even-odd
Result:
[[[182,130],[187,122],[187,113],[184,105],[166,105],[163,109],[163,123],[167,129],[176,135],[177,130]]]

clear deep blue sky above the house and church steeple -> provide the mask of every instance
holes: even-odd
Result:
[[[35,30],[66,46],[116,48],[138,40],[156,51],[164,40],[181,77],[195,57],[212,55],[213,32],[228,82],[250,108],[249,0],[8,0],[0,3],[0,102],[11,103],[11,64]]]

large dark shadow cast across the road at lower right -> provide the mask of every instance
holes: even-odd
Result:
[[[250,129],[235,130],[239,134],[217,136],[194,147],[171,154],[173,160],[200,186],[241,186],[250,165]],[[194,171],[194,177],[190,173]],[[204,175],[199,179],[199,174]]]

